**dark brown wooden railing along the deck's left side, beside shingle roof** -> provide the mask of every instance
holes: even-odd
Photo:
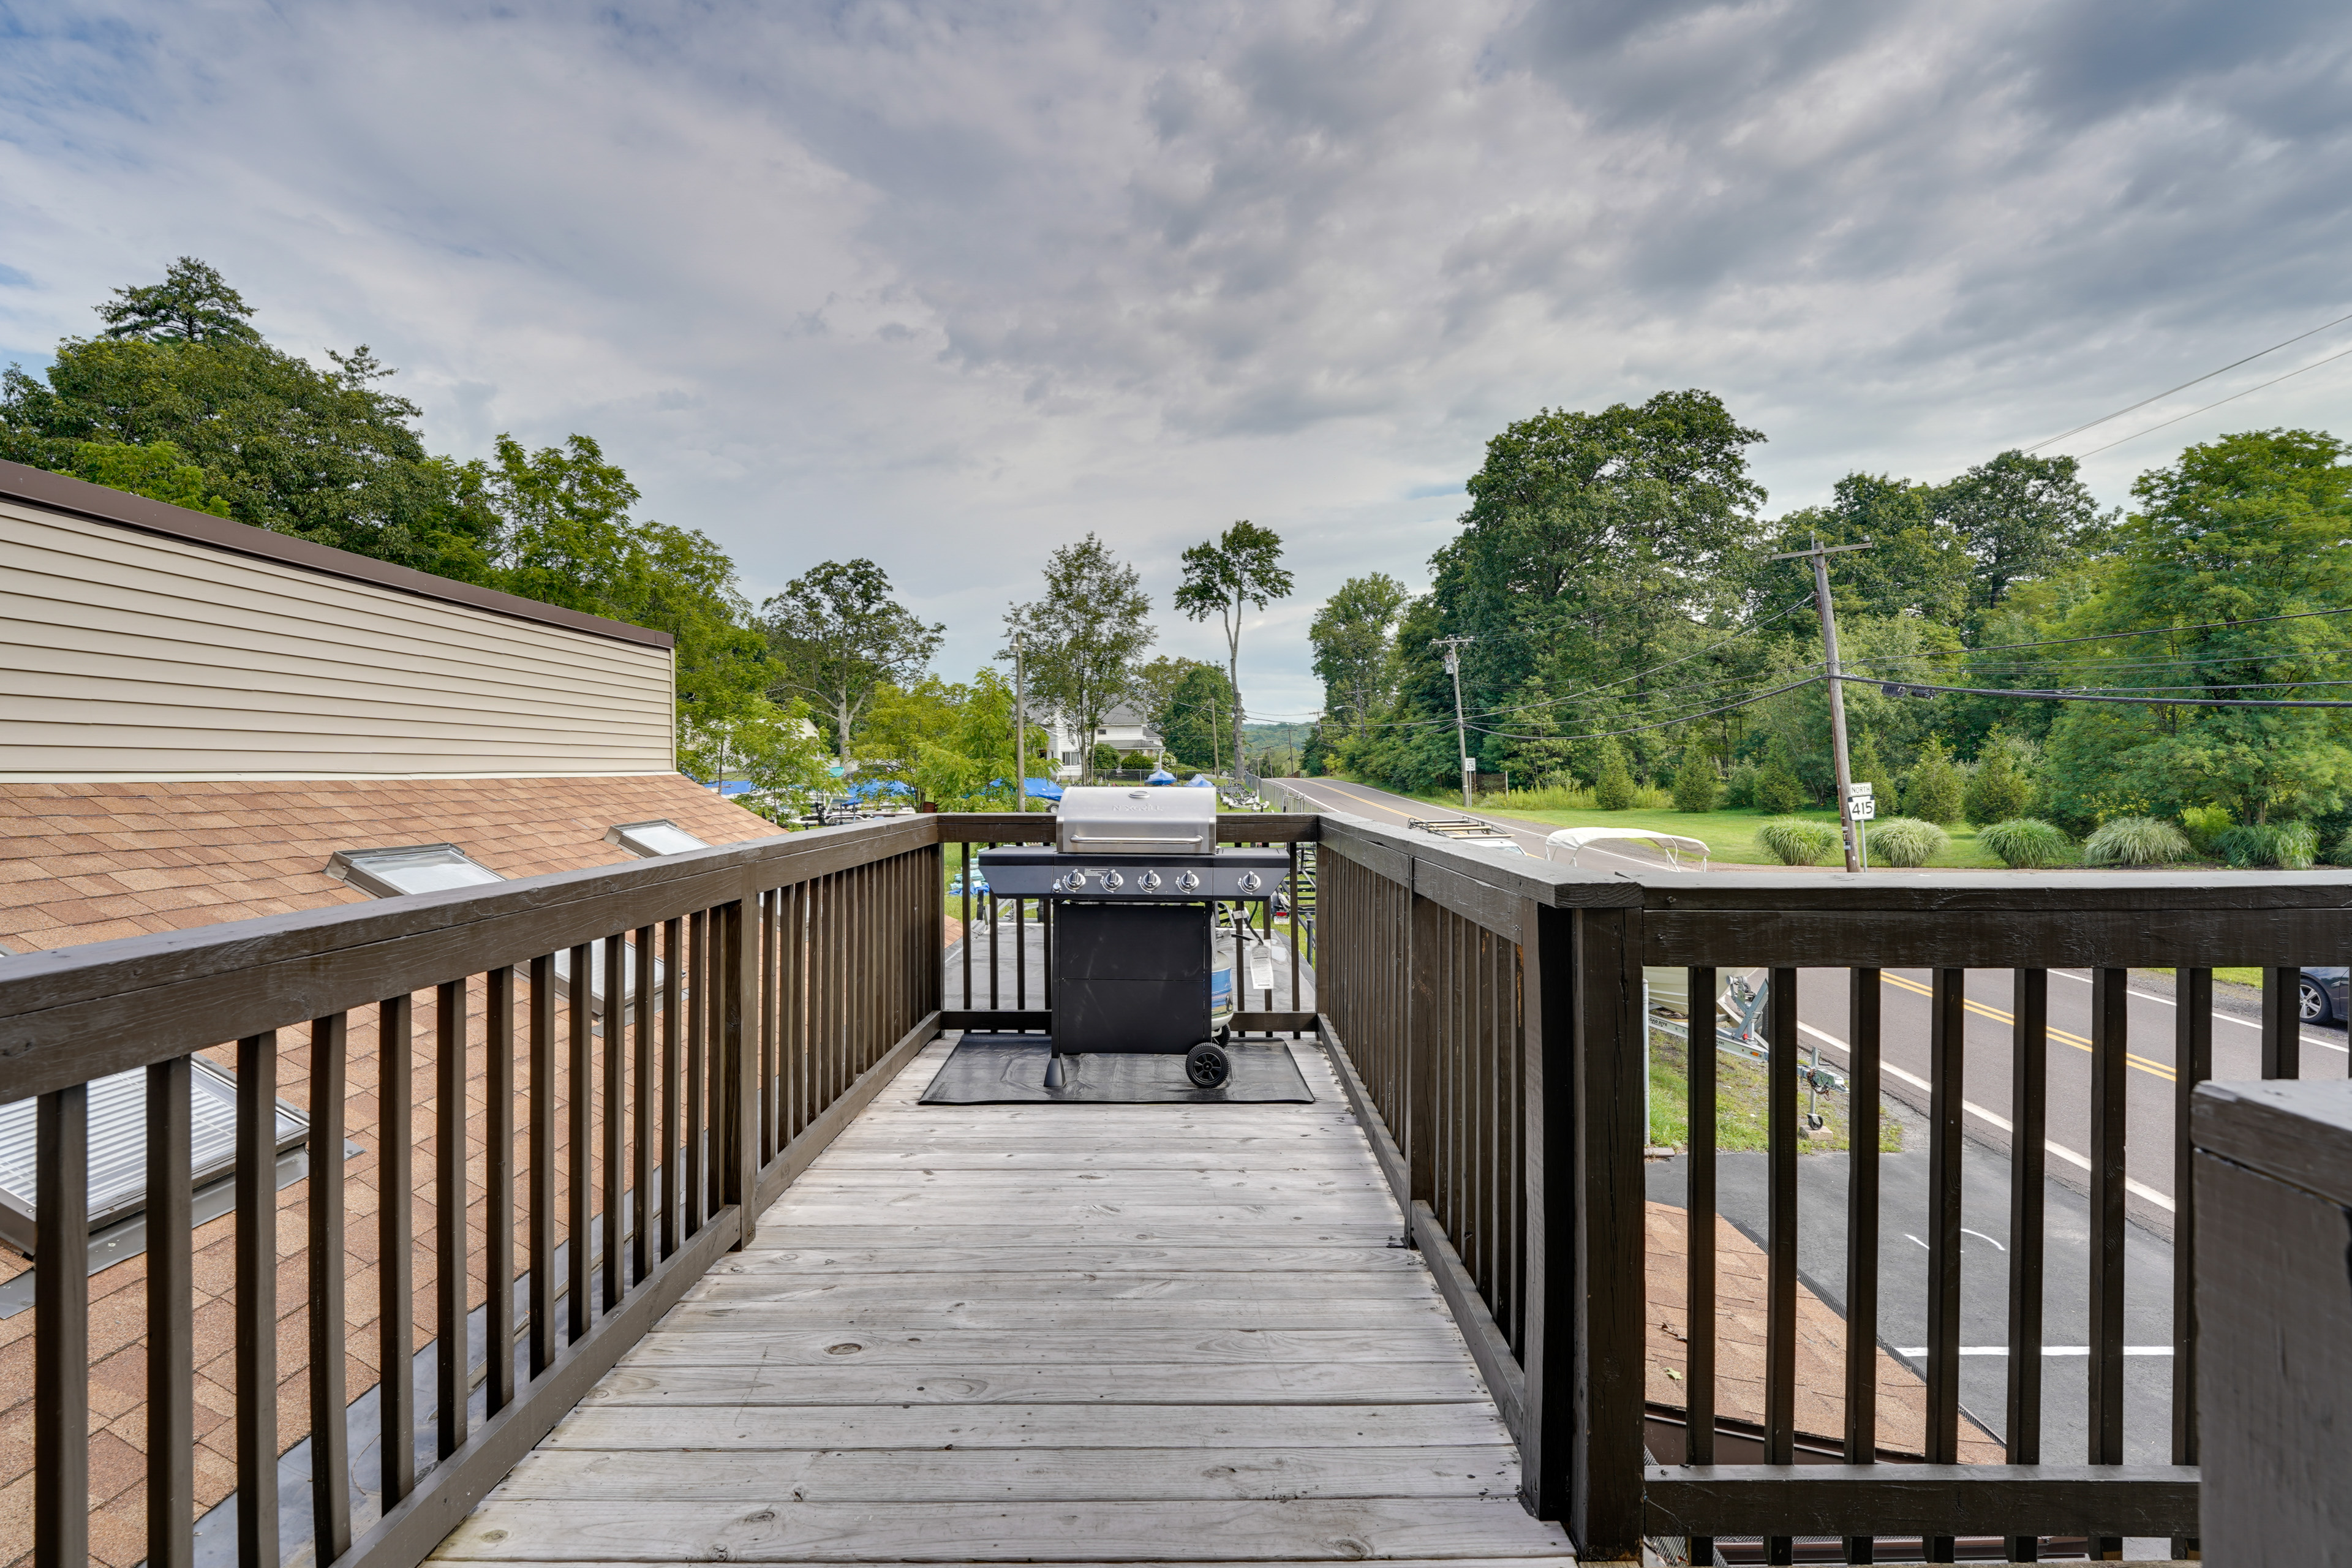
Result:
[[[146,1561],[181,1568],[195,1549],[188,1058],[221,1041],[235,1041],[238,1072],[238,1561],[278,1563],[299,1544],[280,1540],[273,1180],[294,1034],[313,1138],[301,1201],[315,1561],[407,1568],[750,1239],[753,1218],[938,1032],[941,893],[936,818],[915,818],[0,959],[0,1103],[40,1100],[38,1561],[89,1552],[92,1081],[143,1070],[148,1086]],[[426,1095],[412,1077],[416,994],[430,999]],[[346,1124],[358,1034],[374,1037],[372,1126]],[[372,1248],[346,1227],[346,1133],[369,1150]],[[376,1258],[372,1333],[350,1321],[350,1251]],[[409,1378],[419,1260],[437,1347],[426,1474]],[[473,1366],[470,1298],[487,1312]],[[374,1476],[353,1476],[346,1352],[386,1373]],[[358,1540],[353,1490],[381,1500]]]

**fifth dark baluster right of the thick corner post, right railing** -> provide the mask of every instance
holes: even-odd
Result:
[[[2011,980],[2009,1034],[2009,1410],[2006,1458],[2042,1462],[2044,1159],[2049,1154],[2051,976]],[[2009,1561],[2030,1563],[2042,1537],[2011,1533]]]

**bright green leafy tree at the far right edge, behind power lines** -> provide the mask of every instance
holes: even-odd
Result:
[[[2105,590],[2077,635],[2067,684],[2164,686],[2180,696],[2312,696],[2340,675],[2328,618],[2265,621],[2352,602],[2352,463],[2319,430],[2253,430],[2190,447],[2131,487]],[[2194,628],[2194,630],[2192,630]],[[2103,677],[2103,665],[2114,675]],[[2352,790],[2340,710],[2070,703],[2044,745],[2053,811],[2070,827],[2131,809],[2223,806],[2239,823],[2333,811]]]

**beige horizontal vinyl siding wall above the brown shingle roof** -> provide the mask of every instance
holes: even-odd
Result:
[[[670,649],[0,501],[0,780],[668,773]]]

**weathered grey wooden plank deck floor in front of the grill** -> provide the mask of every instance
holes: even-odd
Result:
[[[1569,1561],[1312,1044],[1315,1105],[917,1105],[946,1048],[435,1561]]]

